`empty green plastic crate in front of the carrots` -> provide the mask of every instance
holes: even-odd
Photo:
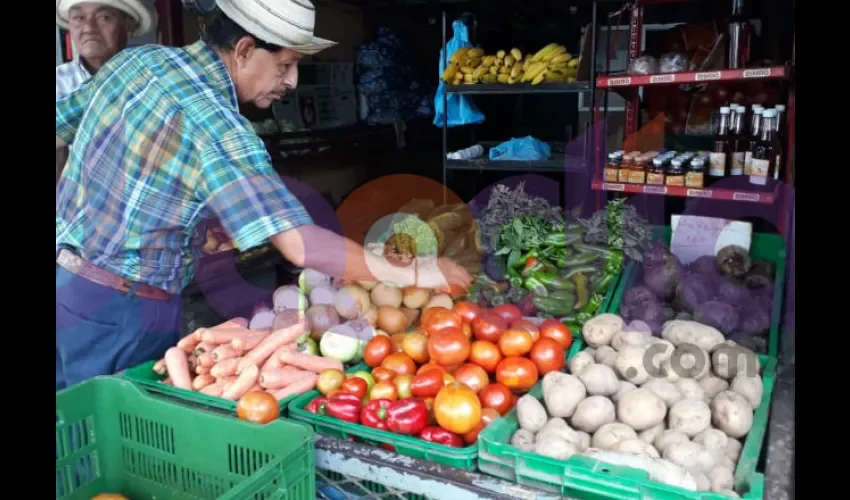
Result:
[[[119,377],[56,393],[56,499],[313,500],[313,432],[146,394]]]

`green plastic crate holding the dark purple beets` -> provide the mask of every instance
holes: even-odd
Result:
[[[670,245],[672,229],[670,226],[655,226],[653,237],[656,241],[661,240]],[[750,255],[759,260],[766,260],[776,266],[776,276],[773,285],[773,307],[771,308],[770,331],[768,332],[767,354],[776,357],[779,353],[779,325],[782,322],[782,306],[785,296],[785,240],[779,234],[753,233]],[[623,296],[632,287],[637,277],[639,263],[630,261],[623,270],[620,281],[617,284],[613,300],[609,303],[608,312],[619,314]]]

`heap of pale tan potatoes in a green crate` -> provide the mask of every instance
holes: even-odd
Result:
[[[531,395],[518,401],[511,444],[739,498],[734,471],[762,404],[758,356],[694,321],[668,321],[661,338],[643,326],[614,314],[585,323],[589,347],[570,360],[570,373],[543,378],[543,404]]]

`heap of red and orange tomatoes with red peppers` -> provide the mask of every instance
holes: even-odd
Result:
[[[307,410],[448,446],[470,445],[540,377],[561,371],[571,344],[563,323],[537,325],[512,304],[431,307],[415,331],[369,341],[363,360],[371,373],[322,373],[322,396]]]

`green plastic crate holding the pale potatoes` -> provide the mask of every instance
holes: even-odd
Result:
[[[568,359],[586,344],[576,335]],[[735,489],[746,492],[742,498],[761,500],[764,476],[756,471],[767,432],[770,398],[776,379],[776,358],[760,354],[764,392],[753,415],[753,426],[741,448],[735,469]],[[538,383],[529,393],[543,399],[543,386]],[[611,465],[596,459],[574,455],[567,460],[544,457],[522,451],[510,444],[519,429],[516,408],[494,420],[478,436],[478,469],[484,474],[507,481],[584,500],[724,500],[728,497],[713,492],[688,491],[649,479],[647,472],[631,467]]]

